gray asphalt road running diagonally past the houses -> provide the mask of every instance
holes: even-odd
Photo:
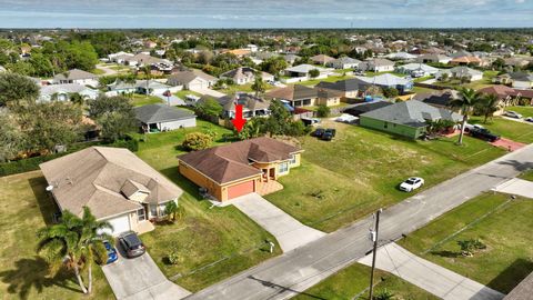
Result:
[[[381,214],[382,244],[423,227],[482,191],[533,168],[533,144],[460,174],[390,207]],[[372,217],[268,260],[187,299],[288,299],[365,256]]]

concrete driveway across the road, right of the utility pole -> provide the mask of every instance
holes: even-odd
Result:
[[[359,262],[372,266],[372,254]],[[375,267],[445,300],[500,300],[504,297],[499,291],[419,258],[394,242],[378,249]]]

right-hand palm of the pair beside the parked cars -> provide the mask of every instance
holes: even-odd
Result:
[[[108,252],[103,246],[103,240],[112,240],[113,238],[104,233],[105,229],[112,230],[112,226],[105,221],[98,221],[91,213],[88,207],[83,207],[82,222],[82,254],[86,258],[88,264],[88,280],[87,287],[88,293],[92,291],[92,262],[94,260],[105,262]]]

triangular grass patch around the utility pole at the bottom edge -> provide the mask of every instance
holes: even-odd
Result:
[[[394,294],[394,299],[439,299],[419,287],[381,270],[374,272],[374,282],[376,283],[374,286],[374,296],[386,290]],[[311,289],[305,290],[293,299],[368,299],[370,267],[354,263],[338,273],[334,273]]]

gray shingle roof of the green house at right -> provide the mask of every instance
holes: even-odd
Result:
[[[435,108],[416,100],[399,102],[363,113],[361,117],[410,127],[425,127],[426,120],[435,121],[442,119],[460,121],[462,118],[460,114],[450,110]]]

